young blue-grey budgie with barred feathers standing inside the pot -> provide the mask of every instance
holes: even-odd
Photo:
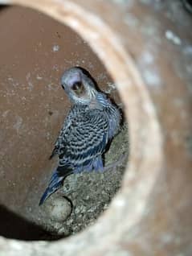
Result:
[[[104,171],[104,152],[121,126],[120,109],[97,88],[86,69],[68,68],[61,77],[61,86],[71,101],[71,109],[50,156],[52,159],[58,155],[58,166],[39,205],[63,186],[67,175]]]

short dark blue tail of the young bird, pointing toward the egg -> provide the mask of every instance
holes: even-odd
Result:
[[[43,204],[44,201],[47,200],[49,196],[51,196],[51,194],[53,194],[59,188],[62,187],[64,178],[70,173],[71,171],[67,171],[65,175],[60,175],[57,169],[54,171],[53,175],[51,176],[51,180],[48,187],[46,188],[45,192],[43,193],[43,196],[39,200],[39,205]]]

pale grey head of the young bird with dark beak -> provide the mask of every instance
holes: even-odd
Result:
[[[72,103],[89,104],[96,97],[94,82],[82,68],[67,69],[61,77],[61,85]]]

